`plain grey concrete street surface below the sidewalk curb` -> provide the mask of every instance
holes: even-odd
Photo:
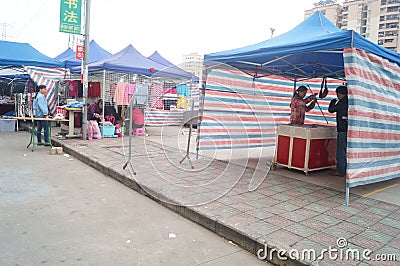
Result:
[[[269,265],[72,156],[0,132],[0,265]]]

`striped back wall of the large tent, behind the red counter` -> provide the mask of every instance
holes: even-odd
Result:
[[[329,102],[336,97],[335,88],[342,81],[329,80],[329,94],[319,100],[320,107],[332,126],[335,115],[328,112]],[[298,82],[319,92],[321,79]],[[276,126],[290,122],[293,81],[273,76],[255,81],[233,69],[213,69],[207,76],[202,113],[198,128],[198,149],[242,149],[275,146]],[[326,125],[316,106],[306,115],[305,123]]]

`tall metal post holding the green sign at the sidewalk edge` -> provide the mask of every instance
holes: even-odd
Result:
[[[82,139],[87,139],[87,97],[88,97],[88,61],[89,61],[89,25],[90,25],[90,0],[85,4],[85,41],[83,52],[83,114],[82,114]]]

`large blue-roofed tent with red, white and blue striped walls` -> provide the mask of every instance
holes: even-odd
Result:
[[[218,127],[207,119],[224,105],[229,109],[224,110],[223,117],[228,117],[227,110],[236,114],[247,110],[240,117],[254,120],[252,130],[258,135],[247,132],[247,139],[239,137],[242,146],[273,143],[276,125],[289,122],[288,101],[293,89],[305,84],[311,84],[312,88],[313,82],[328,77],[336,79],[337,84],[346,82],[349,92],[346,202],[351,187],[400,177],[398,53],[352,30],[340,30],[317,11],[285,34],[246,47],[207,54],[204,60],[207,79],[202,112],[205,119],[199,125],[199,149],[203,132],[214,132],[207,137],[215,141],[213,136],[221,137],[215,132],[231,126],[229,122]],[[239,72],[241,75],[237,75]],[[284,95],[289,99],[286,102],[282,101]],[[328,95],[325,103],[319,101],[323,111],[332,96]],[[309,118],[309,122],[321,122],[316,113]],[[332,116],[328,115],[327,120],[334,123]]]

